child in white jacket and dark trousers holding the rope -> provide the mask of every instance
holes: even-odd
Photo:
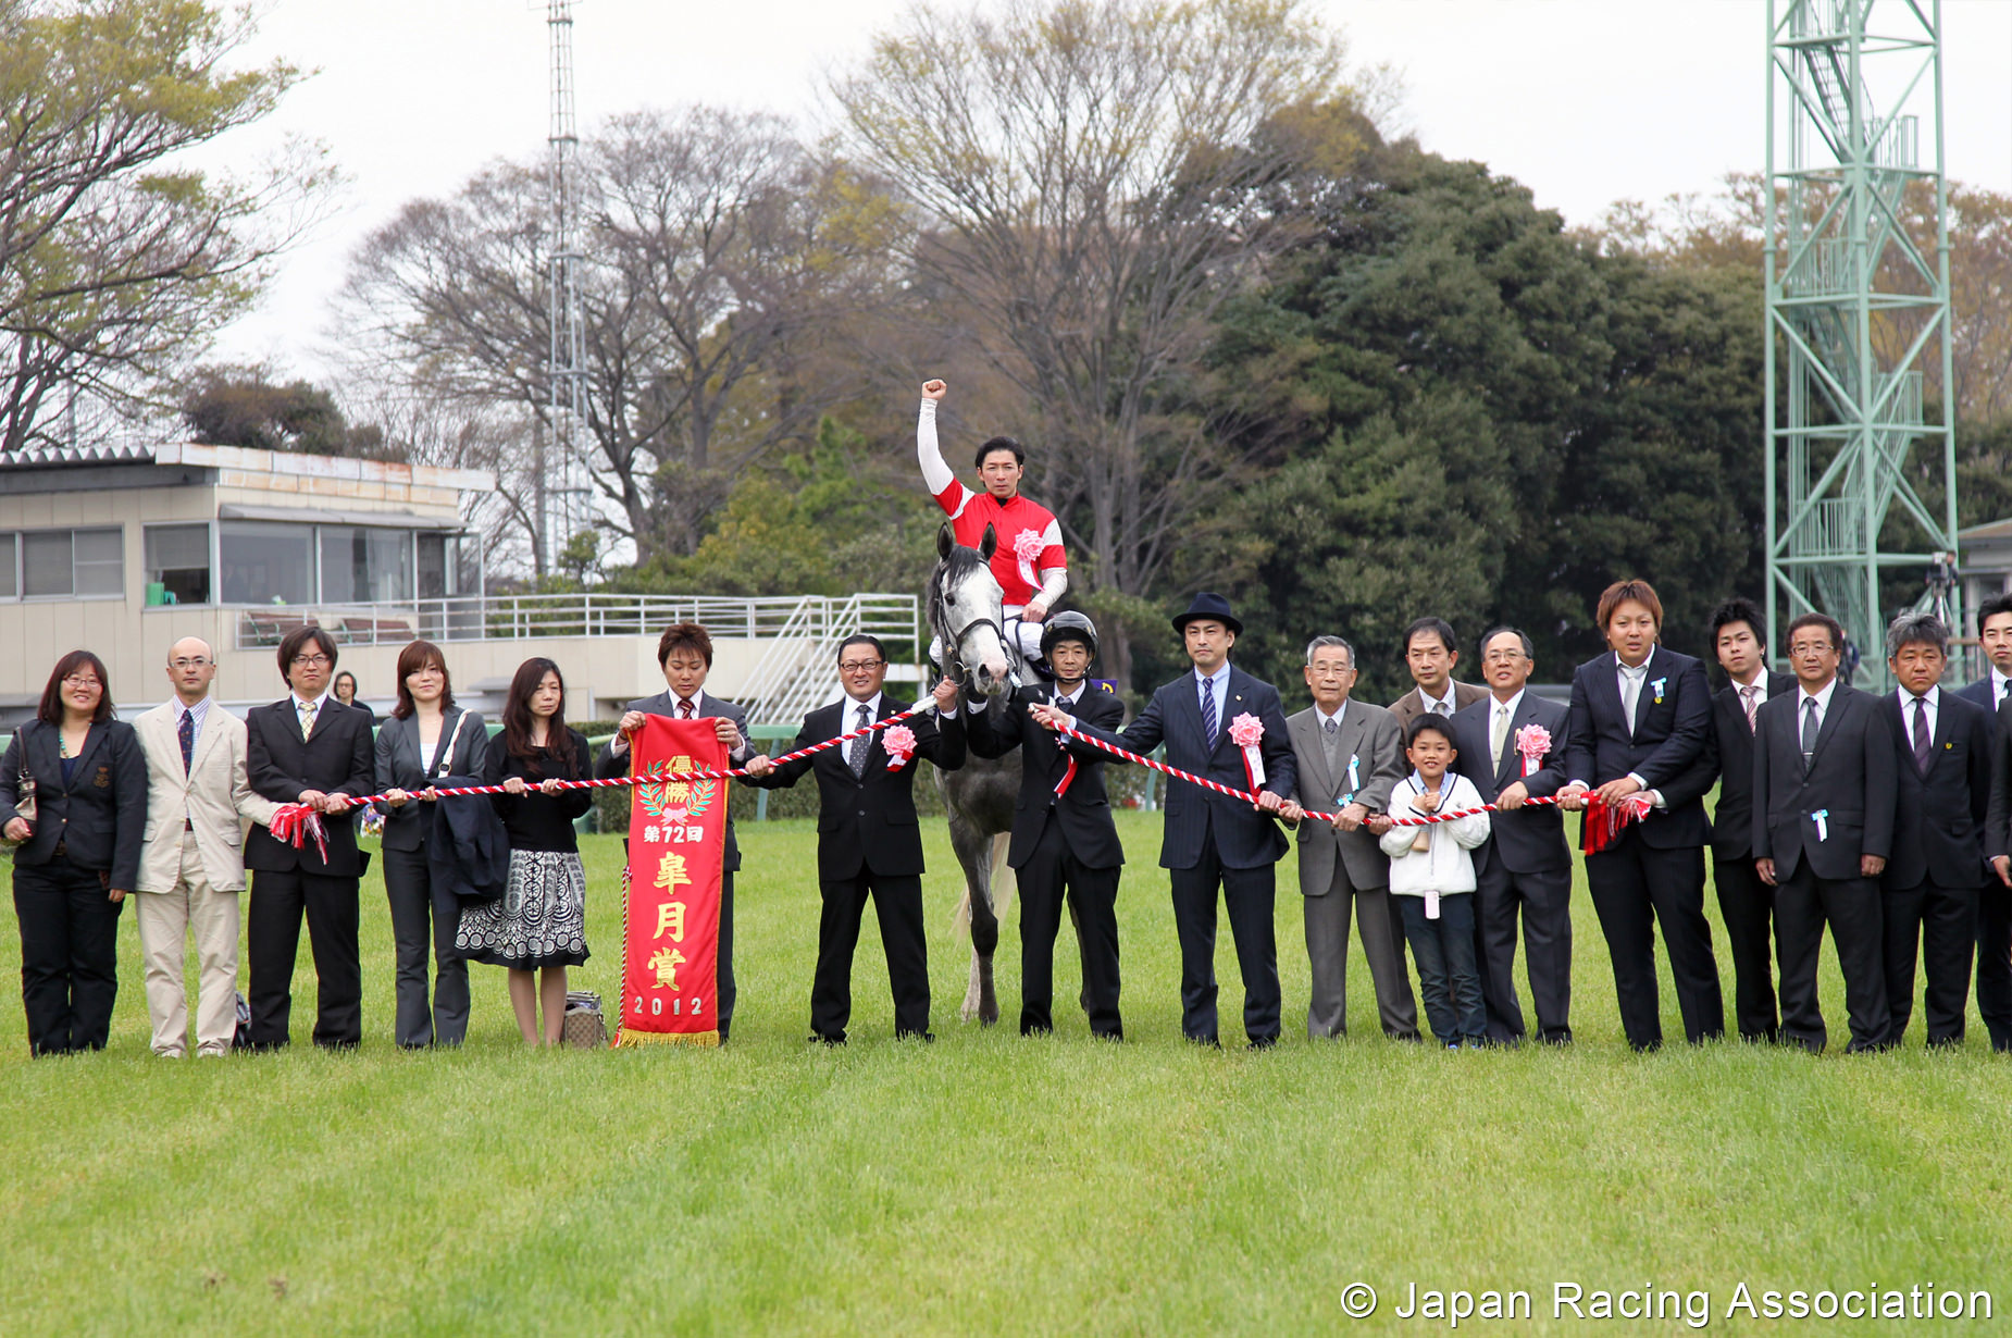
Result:
[[[1412,773],[1390,791],[1388,815],[1364,823],[1390,857],[1390,895],[1404,915],[1404,942],[1418,962],[1418,996],[1433,1036],[1449,1050],[1487,1042],[1481,970],[1475,962],[1475,859],[1489,839],[1489,815],[1475,813],[1427,827],[1396,827],[1392,817],[1479,809],[1473,781],[1451,775],[1453,730],[1445,716],[1422,714],[1404,730]]]

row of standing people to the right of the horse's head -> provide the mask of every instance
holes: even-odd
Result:
[[[1048,642],[1070,636],[1060,622],[1050,620]],[[1960,692],[1940,688],[1950,632],[1930,616],[1889,626],[1887,664],[1899,682],[1889,694],[1839,678],[1843,630],[1823,614],[1789,624],[1791,676],[1767,670],[1767,628],[1752,602],[1716,610],[1710,642],[1726,672],[1716,694],[1700,660],[1660,644],[1662,604],[1646,581],[1610,586],[1598,624],[1610,650],[1577,666],[1569,704],[1529,690],[1535,662],[1523,632],[1495,628],[1481,638],[1485,686],[1471,686],[1453,676],[1453,630],[1422,618],[1404,638],[1416,686],[1388,708],[1354,700],[1354,648],[1316,636],[1304,668],[1312,704],[1286,716],[1270,684],[1229,664],[1243,628],[1227,602],[1199,596],[1175,618],[1193,672],[1155,692],[1123,730],[1076,704],[1066,662],[1056,664],[1052,694],[1024,690],[1016,710],[1036,728],[1074,728],[1060,744],[1076,775],[1066,789],[1046,789],[1056,767],[1030,761],[1014,849],[1070,845],[1070,813],[1078,827],[1109,833],[1095,781],[1109,752],[1082,736],[1135,755],[1165,746],[1171,767],[1258,795],[1249,803],[1179,779],[1167,787],[1161,865],[1181,940],[1189,1040],[1217,1038],[1217,891],[1243,974],[1245,1036],[1260,1048],[1278,1040],[1274,863],[1286,851],[1284,831],[1298,827],[1310,1036],[1346,1028],[1352,915],[1392,1038],[1418,1038],[1408,946],[1439,1042],[1521,1042],[1529,1034],[1513,978],[1521,926],[1537,1036],[1563,1044],[1571,1040],[1571,847],[1561,811],[1587,809],[1598,797],[1602,839],[1587,847],[1585,879],[1634,1048],[1662,1044],[1658,928],[1686,1038],[1724,1034],[1704,917],[1704,849],[1712,847],[1742,1038],[1825,1046],[1817,958],[1829,928],[1853,1050],[1901,1042],[1917,962],[1932,1046],[1962,1042],[1976,962],[1992,1044],[2012,1050],[2012,596],[1980,610],[1992,672]],[[1095,632],[1086,640],[1095,646]],[[1243,722],[1239,732],[1233,716],[1251,716],[1255,726]],[[972,716],[974,740],[984,724],[984,714]],[[1020,740],[1028,744],[1032,732],[1020,730]],[[1706,815],[1714,783],[1718,803]],[[1469,813],[1485,807],[1495,811]],[[1330,817],[1312,821],[1310,813]],[[1467,815],[1400,821],[1435,813]],[[1115,849],[1109,837],[1078,843],[1078,855]],[[1084,962],[1086,982],[1111,982],[1105,1000],[1088,990],[1091,1026],[1117,1036],[1115,867],[1109,877],[1066,861],[1020,867],[1030,901],[1060,895],[1064,883],[1084,952],[1105,946],[1103,962]],[[1034,907],[1024,915],[1028,934]],[[1026,938],[1024,954],[1040,960],[1024,978],[1042,992],[1028,998],[1022,1030],[1048,1018],[1052,913],[1038,924],[1040,942]]]

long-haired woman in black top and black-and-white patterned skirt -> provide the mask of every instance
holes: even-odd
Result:
[[[594,791],[559,791],[557,781],[592,775],[588,738],[565,726],[565,680],[551,660],[517,666],[503,704],[503,746],[489,748],[483,783],[501,785],[497,813],[509,829],[509,891],[501,901],[461,911],[457,948],[471,962],[509,968],[509,1002],[525,1044],[545,1044],[565,1026],[565,968],[588,960],[588,877],[579,867],[573,819]],[[543,972],[543,980],[539,980]]]

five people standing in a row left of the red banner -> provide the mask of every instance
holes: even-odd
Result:
[[[0,829],[14,843],[22,1004],[34,1054],[99,1050],[119,990],[119,913],[137,901],[153,1050],[189,1050],[183,964],[193,938],[199,990],[195,1052],[288,1044],[300,924],[318,978],[316,1044],[362,1040],[358,887],[370,855],[356,845],[356,801],[384,795],[384,891],[396,942],[402,1046],[457,1044],[469,1026],[467,964],[509,970],[527,1042],[557,1042],[565,968],[588,960],[585,877],[573,819],[588,791],[551,783],[592,771],[588,740],[565,724],[565,680],[525,660],[503,704],[503,730],[455,704],[447,660],[431,642],[398,656],[398,704],[374,716],[330,690],[336,642],[300,628],[280,644],[288,694],[243,720],[211,700],[217,662],[187,638],[167,652],[173,698],[133,722],[115,718],[105,662],[58,660],[36,718],[0,761]],[[354,690],[354,688],[352,688]],[[447,785],[503,785],[507,889],[463,903],[431,821]],[[318,839],[280,841],[282,805],[324,819]],[[429,849],[431,847],[431,849]],[[254,875],[239,924],[239,893]],[[239,1034],[237,940],[249,958]],[[431,1000],[427,958],[437,962]],[[543,1026],[539,1024],[543,1004]]]

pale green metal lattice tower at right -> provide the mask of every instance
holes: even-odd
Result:
[[[1769,0],[1767,42],[1769,624],[1837,618],[1861,682],[1883,686],[1885,622],[1905,604],[1881,602],[1887,569],[1921,571],[1921,604],[1962,630],[1934,575],[1956,553],[1942,2]],[[1932,256],[1905,225],[1930,197]],[[1909,483],[1915,443],[1942,457],[1942,515]],[[1895,507],[1907,551],[1881,551]]]

